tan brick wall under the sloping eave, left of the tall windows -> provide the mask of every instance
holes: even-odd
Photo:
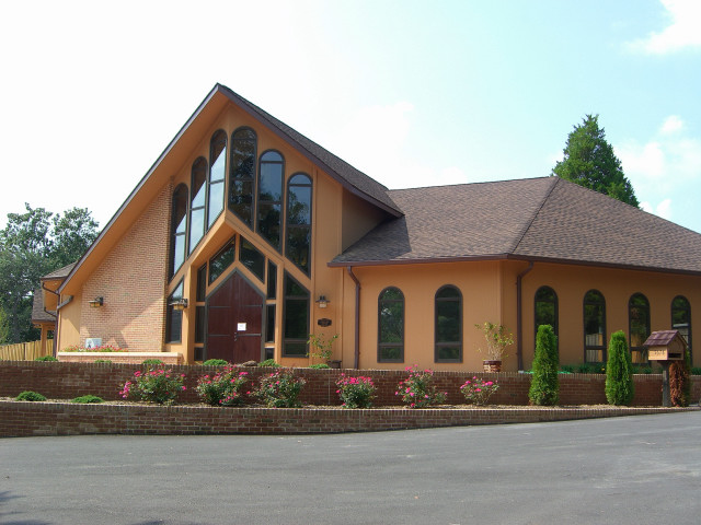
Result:
[[[161,350],[171,192],[169,184],[84,282],[81,345],[101,337],[104,345],[133,351]],[[104,306],[90,307],[88,301],[97,296]]]

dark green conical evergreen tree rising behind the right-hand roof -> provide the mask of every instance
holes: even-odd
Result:
[[[599,128],[599,116],[587,115],[574,127],[563,150],[564,159],[552,168],[552,175],[594,189],[637,208],[639,202],[630,180],[623,174],[621,161]]]

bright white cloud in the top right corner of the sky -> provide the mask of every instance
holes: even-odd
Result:
[[[629,43],[629,48],[647,55],[665,55],[685,48],[701,49],[701,2],[660,0],[670,24],[662,32]]]

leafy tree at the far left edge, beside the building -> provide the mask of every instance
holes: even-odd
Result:
[[[38,337],[32,326],[34,291],[41,277],[79,259],[97,236],[97,222],[84,208],[54,214],[25,203],[24,213],[8,213],[0,230],[0,308],[7,317],[7,341]]]

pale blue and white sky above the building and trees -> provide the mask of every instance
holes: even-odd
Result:
[[[701,232],[697,0],[0,4],[0,226],[106,225],[220,82],[389,188],[542,177],[586,115]]]

